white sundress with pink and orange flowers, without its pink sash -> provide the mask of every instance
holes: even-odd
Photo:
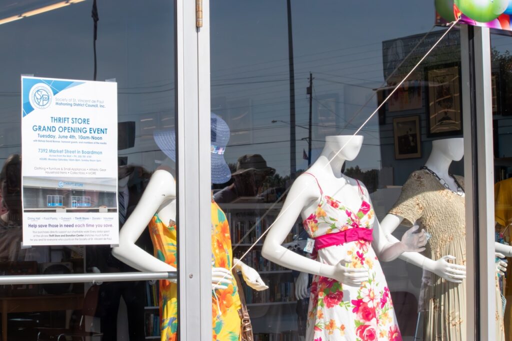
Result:
[[[352,211],[342,202],[325,196],[318,184],[321,199],[315,211],[303,222],[310,238],[351,228],[372,229],[375,214],[359,183],[358,186],[362,202],[357,211]],[[316,252],[316,260],[329,265],[336,265],[347,256],[351,261],[345,266],[368,269],[369,279],[360,287],[352,287],[327,277],[314,276],[306,340],[401,341],[390,291],[371,242],[356,240]]]

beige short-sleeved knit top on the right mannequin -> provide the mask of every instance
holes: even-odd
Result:
[[[464,188],[464,178],[455,178]],[[464,205],[464,197],[445,188],[428,171],[420,170],[409,176],[390,213],[402,217],[404,225],[417,222],[432,235],[424,253],[430,253],[430,258],[436,260],[445,255],[443,252],[452,241],[464,240]]]

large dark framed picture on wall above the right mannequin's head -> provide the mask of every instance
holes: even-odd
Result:
[[[428,137],[462,134],[460,63],[425,68]]]

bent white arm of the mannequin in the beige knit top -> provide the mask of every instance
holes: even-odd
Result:
[[[382,219],[382,230],[386,233],[387,238],[391,242],[398,241],[398,239],[391,235],[391,232],[393,232],[402,221],[402,217],[392,214],[388,214],[384,219]],[[466,278],[465,266],[449,262],[450,260],[455,260],[455,257],[452,255],[445,255],[437,261],[434,261],[418,252],[403,252],[399,258],[424,270],[433,272],[439,277],[453,283],[462,283],[462,280]]]

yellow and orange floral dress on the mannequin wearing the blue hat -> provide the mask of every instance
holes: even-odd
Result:
[[[154,254],[159,260],[177,267],[176,264],[176,223],[165,225],[155,215],[150,224]],[[233,253],[226,215],[215,201],[211,201],[211,263],[214,267],[230,269]],[[160,281],[160,333],[161,341],[175,341],[178,330],[178,290],[175,283]],[[239,341],[241,308],[236,284],[226,289],[212,291],[212,340]]]

